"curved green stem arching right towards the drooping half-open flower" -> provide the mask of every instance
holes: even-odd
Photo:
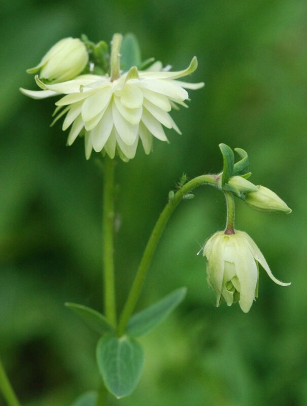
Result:
[[[141,293],[143,283],[147,274],[148,267],[150,265],[151,259],[153,254],[156,250],[158,241],[160,236],[163,232],[163,229],[169,220],[170,216],[172,215],[173,211],[179,204],[180,200],[188,194],[191,190],[195,187],[204,185],[204,184],[211,184],[214,186],[218,186],[218,175],[202,175],[198,176],[197,178],[192,179],[191,181],[187,182],[184,186],[182,186],[177,193],[174,195],[172,199],[170,199],[165,206],[164,210],[160,214],[158,221],[156,222],[154,229],[150,235],[148,240],[147,246],[145,248],[141,263],[139,265],[137,275],[135,275],[131,290],[129,292],[128,298],[124,305],[123,311],[120,316],[119,324],[118,324],[118,335],[121,336],[124,334],[127,323],[132,316],[133,310],[135,308],[135,304],[137,304],[139,295]]]

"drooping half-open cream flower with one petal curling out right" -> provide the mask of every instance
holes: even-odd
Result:
[[[258,263],[264,268],[270,279],[281,286],[262,255],[261,251],[244,231],[235,230],[234,234],[216,232],[203,247],[203,256],[208,259],[207,281],[217,295],[217,306],[222,298],[228,306],[239,302],[243,312],[247,313],[258,297]]]

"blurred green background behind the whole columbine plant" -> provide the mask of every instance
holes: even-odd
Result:
[[[220,142],[248,151],[251,180],[274,189],[291,215],[257,213],[237,202],[236,226],[265,255],[282,288],[260,273],[249,314],[214,306],[199,246],[225,223],[223,196],[198,189],[160,241],[138,309],[180,286],[185,302],[144,337],[146,366],[122,406],[296,406],[307,404],[305,0],[1,0],[0,354],[24,406],[68,406],[99,383],[97,336],[69,310],[102,310],[101,189],[82,140],[66,148],[54,100],[37,101],[25,69],[59,39],[86,33],[109,42],[134,32],[142,56],[175,70],[197,55],[188,110],[167,131],[119,162],[116,235],[118,309],[167,194],[183,172],[220,171]],[[0,404],[4,399],[0,395]]]

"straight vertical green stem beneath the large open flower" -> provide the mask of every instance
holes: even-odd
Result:
[[[114,281],[114,162],[105,157],[105,179],[103,198],[103,265],[105,314],[116,326],[115,281]]]

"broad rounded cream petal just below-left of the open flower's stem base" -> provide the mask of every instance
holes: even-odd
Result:
[[[82,105],[81,114],[83,121],[86,122],[92,120],[97,114],[105,110],[110,103],[112,95],[113,92],[111,87],[106,87],[102,90],[97,90],[97,92],[86,98]]]

